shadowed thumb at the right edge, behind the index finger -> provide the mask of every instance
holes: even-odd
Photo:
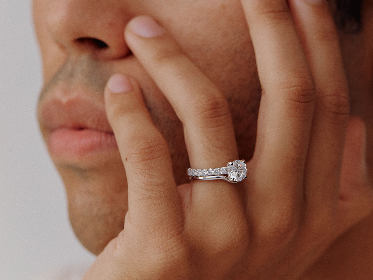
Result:
[[[367,217],[373,208],[373,191],[366,162],[366,127],[352,116],[348,122],[337,206],[337,232],[342,234]]]

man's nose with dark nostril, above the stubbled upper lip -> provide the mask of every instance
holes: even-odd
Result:
[[[46,27],[67,53],[110,60],[130,53],[123,31],[129,15],[117,0],[52,0]]]

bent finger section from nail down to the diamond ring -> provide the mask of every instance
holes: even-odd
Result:
[[[227,100],[171,36],[140,16],[129,22],[125,38],[181,120],[191,166],[222,167],[238,159]]]

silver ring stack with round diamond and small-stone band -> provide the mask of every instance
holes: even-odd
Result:
[[[195,169],[188,168],[188,176],[191,180],[217,180],[223,179],[231,183],[237,183],[246,179],[247,168],[244,160],[228,162],[227,167]]]

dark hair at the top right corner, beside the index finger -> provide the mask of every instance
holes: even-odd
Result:
[[[347,32],[361,29],[361,7],[363,0],[336,0],[335,19],[339,28]]]

